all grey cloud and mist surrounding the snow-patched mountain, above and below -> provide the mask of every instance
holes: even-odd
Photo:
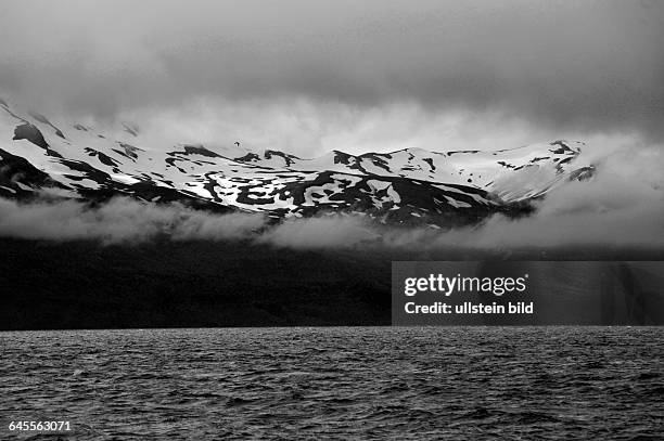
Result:
[[[593,181],[548,195],[535,216],[435,237],[354,218],[254,237],[261,217],[127,200],[98,211],[3,202],[0,234],[662,247],[663,48],[656,0],[0,0],[0,98],[105,133],[137,124],[142,147],[241,141],[315,157],[567,139],[586,142],[597,166]]]

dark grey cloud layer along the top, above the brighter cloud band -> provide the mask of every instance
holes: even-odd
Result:
[[[0,88],[101,116],[305,98],[661,140],[662,47],[661,2],[0,3]]]

